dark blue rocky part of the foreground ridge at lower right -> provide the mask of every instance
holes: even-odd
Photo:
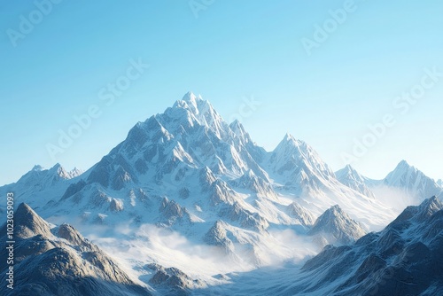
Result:
[[[328,245],[302,270],[315,284],[299,285],[294,292],[443,295],[443,205],[433,197],[408,206],[385,230],[354,245]],[[338,278],[340,284],[334,284]]]

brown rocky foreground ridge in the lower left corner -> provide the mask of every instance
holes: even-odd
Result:
[[[68,224],[50,225],[26,204],[15,213],[14,290],[2,295],[151,295],[134,283],[97,245]],[[6,225],[2,234],[6,233]],[[6,236],[0,238],[5,261]],[[0,280],[6,282],[2,265]]]

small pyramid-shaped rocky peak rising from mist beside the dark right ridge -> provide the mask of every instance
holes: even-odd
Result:
[[[366,234],[363,226],[351,219],[340,206],[331,206],[315,221],[309,235],[324,245],[350,245]]]

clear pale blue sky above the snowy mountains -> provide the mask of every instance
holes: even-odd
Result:
[[[354,138],[392,113],[395,126],[354,167],[382,178],[405,159],[442,178],[443,77],[405,114],[392,102],[421,82],[424,68],[443,72],[443,3],[355,2],[307,55],[302,38],[315,40],[315,25],[345,2],[216,0],[196,18],[188,0],[65,0],[41,19],[32,1],[1,2],[0,184],[35,164],[89,168],[136,121],[188,90],[226,120],[253,96],[261,105],[242,121],[258,144],[273,150],[289,132],[335,170],[345,166],[341,155]],[[20,15],[36,24],[30,32],[21,25],[26,34],[14,47],[10,29],[20,32]],[[126,73],[131,58],[150,67],[105,105],[98,92]],[[51,159],[46,144],[57,144],[58,130],[90,105],[101,115]]]

